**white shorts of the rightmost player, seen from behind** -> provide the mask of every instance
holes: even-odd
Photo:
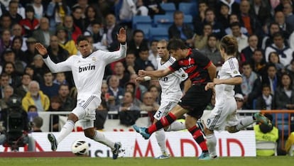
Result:
[[[223,131],[225,126],[236,126],[236,101],[234,98],[227,99],[223,104],[215,106],[205,121],[210,130]]]

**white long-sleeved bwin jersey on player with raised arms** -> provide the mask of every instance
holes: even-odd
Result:
[[[72,71],[72,76],[77,87],[77,99],[88,96],[101,96],[102,79],[105,66],[116,60],[126,57],[126,45],[114,52],[97,50],[88,57],[72,55],[64,62],[55,64],[50,57],[43,59],[52,72]]]

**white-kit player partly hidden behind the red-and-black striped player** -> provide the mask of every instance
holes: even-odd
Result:
[[[166,40],[160,40],[157,44],[157,50],[159,57],[156,59],[158,63],[158,70],[165,70],[170,65],[175,62],[175,58],[170,56],[167,48],[168,42]],[[137,82],[143,82],[151,77],[138,77]],[[153,77],[152,79],[158,79],[161,87],[161,101],[160,107],[156,114],[154,114],[154,121],[159,121],[160,118],[166,116],[173,107],[178,104],[180,98],[183,96],[182,90],[180,89],[180,83],[187,79],[187,73],[183,69],[180,69],[176,72],[168,74],[165,77]],[[161,128],[159,131],[156,131],[156,140],[160,147],[161,155],[156,157],[157,159],[168,158],[168,151],[165,145],[165,133],[164,131],[180,131],[185,129],[185,123],[179,121],[174,121],[170,126]]]

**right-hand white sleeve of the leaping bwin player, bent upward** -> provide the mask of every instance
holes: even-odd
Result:
[[[104,60],[107,64],[109,64],[111,62],[115,62],[117,60],[121,60],[122,58],[126,57],[126,44],[120,45],[120,48],[117,51],[106,52],[102,50],[97,50],[94,53],[98,59]]]

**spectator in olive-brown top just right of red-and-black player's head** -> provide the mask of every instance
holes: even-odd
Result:
[[[205,45],[207,45],[207,37],[210,34],[212,34],[212,25],[205,23],[202,35],[195,34],[194,36],[194,48],[199,50],[205,48]]]

